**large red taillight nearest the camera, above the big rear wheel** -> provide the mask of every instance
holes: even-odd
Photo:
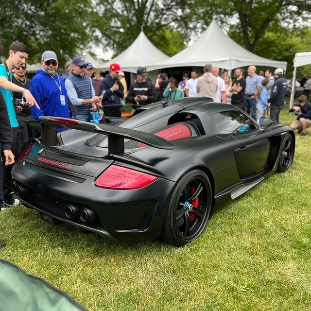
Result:
[[[95,180],[95,185],[110,189],[137,189],[153,183],[158,177],[118,165],[111,165]]]

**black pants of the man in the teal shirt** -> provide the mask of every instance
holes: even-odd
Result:
[[[12,128],[12,134],[13,134],[13,142],[12,142],[12,153],[15,156],[15,161],[17,161],[17,158],[20,154],[20,129],[19,127]],[[2,161],[3,161],[3,181],[2,181],[2,190],[3,190],[3,200],[11,200],[12,197],[12,166],[14,165],[7,165],[5,166],[5,157],[2,155]]]

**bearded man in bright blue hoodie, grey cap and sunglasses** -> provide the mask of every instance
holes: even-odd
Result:
[[[35,119],[42,116],[70,118],[66,87],[62,77],[56,73],[56,54],[45,51],[41,56],[41,66],[29,87],[40,109],[31,107],[31,114]]]

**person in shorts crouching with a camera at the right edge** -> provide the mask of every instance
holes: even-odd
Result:
[[[307,103],[308,98],[306,95],[298,97],[298,104],[294,105],[290,112],[295,112],[297,120],[291,124],[293,130],[298,130],[298,134],[306,136],[306,129],[311,126],[311,104]]]

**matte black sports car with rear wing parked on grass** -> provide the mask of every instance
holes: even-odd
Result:
[[[43,220],[114,241],[191,242],[213,211],[294,158],[289,126],[208,98],[150,104],[118,126],[38,122],[42,140],[13,168],[15,195]]]

